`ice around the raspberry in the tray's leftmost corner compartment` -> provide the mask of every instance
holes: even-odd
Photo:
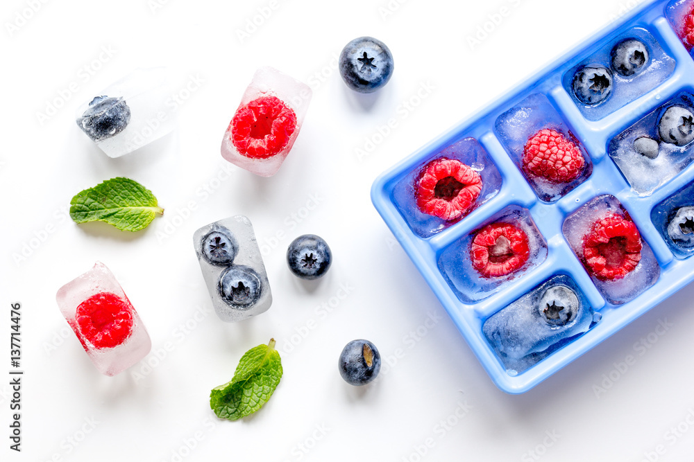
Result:
[[[482,178],[482,191],[471,208],[456,220],[446,221],[433,215],[422,213],[416,203],[415,191],[422,169],[434,159],[455,159],[471,167]],[[403,215],[410,229],[417,236],[428,238],[443,231],[448,226],[463,220],[475,208],[480,207],[496,196],[501,189],[501,175],[484,147],[474,138],[467,137],[443,148],[434,156],[425,159],[417,168],[409,172],[393,188],[393,202]]]

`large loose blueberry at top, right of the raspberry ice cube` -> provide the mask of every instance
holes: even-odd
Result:
[[[373,37],[359,37],[340,53],[342,80],[350,89],[371,93],[386,85],[393,74],[393,55],[388,47]]]

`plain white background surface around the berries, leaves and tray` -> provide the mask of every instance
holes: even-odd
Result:
[[[489,380],[369,199],[380,172],[636,2],[409,0],[391,2],[398,6],[391,11],[380,10],[386,0],[65,0],[35,1],[36,12],[26,10],[30,3],[5,0],[0,12],[0,373],[8,377],[10,368],[12,301],[22,302],[25,371],[21,454],[8,449],[9,379],[0,380],[3,462],[532,461],[539,454],[641,461],[658,445],[664,454],[651,460],[683,461],[694,452],[686,423],[694,422],[693,287],[535,389],[509,396]],[[239,38],[270,5],[269,17]],[[471,46],[468,37],[502,7],[508,15]],[[396,64],[376,98],[359,100],[341,82],[335,57],[360,35],[382,39]],[[75,109],[132,69],[155,65],[169,66],[185,97],[178,129],[109,159],[78,130]],[[314,88],[294,150],[269,179],[219,154],[262,65]],[[184,91],[194,81],[201,84]],[[49,105],[62,107],[41,121]],[[359,158],[355,150],[390,118],[397,126]],[[139,233],[67,218],[75,193],[119,175],[150,188],[164,217]],[[226,324],[210,312],[192,234],[239,213],[266,246],[274,303],[250,321]],[[303,233],[323,236],[335,256],[317,284],[301,283],[286,267],[287,245]],[[22,249],[25,259],[17,258]],[[117,377],[94,369],[55,302],[58,288],[95,260],[116,274],[153,341],[153,353]],[[341,287],[349,294],[336,303]],[[335,310],[325,315],[325,303]],[[427,319],[437,321],[425,328]],[[672,326],[655,334],[665,320]],[[210,389],[270,337],[285,369],[276,393],[251,418],[217,420]],[[363,389],[337,371],[341,348],[355,338],[373,341],[392,364]],[[641,339],[648,348],[636,346]],[[610,375],[616,380],[604,382]],[[609,389],[596,392],[603,385]]]

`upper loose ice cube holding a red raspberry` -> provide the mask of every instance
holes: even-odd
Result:
[[[261,67],[258,69],[255,75],[253,75],[251,84],[246,88],[246,92],[244,93],[239,107],[236,109],[234,118],[232,118],[224,133],[224,138],[221,143],[222,157],[236,166],[244,168],[260,177],[271,177],[275,175],[280,169],[280,166],[282,166],[282,162],[285,161],[287,154],[289,154],[291,147],[294,145],[294,141],[296,141],[296,137],[301,130],[301,125],[306,116],[308,105],[311,102],[312,94],[313,91],[308,85],[289,77],[289,75],[281,73],[277,69],[273,69],[272,67]],[[234,142],[233,131],[235,120],[237,120],[239,111],[244,108],[248,110],[248,103],[265,97],[276,97],[283,105],[291,109],[296,116],[296,126],[285,143],[275,146],[275,148],[280,149],[278,152],[270,155],[244,154],[239,151],[239,148],[237,148]],[[255,112],[257,111],[254,111],[253,118],[256,121],[260,121],[264,118],[265,113],[255,114]],[[271,119],[272,117],[264,121],[264,123],[254,123],[253,129],[249,134],[244,136],[244,139],[251,139],[254,143],[257,142],[262,145],[273,143],[278,138],[276,130],[278,130],[279,125],[273,124]],[[270,152],[273,152],[273,150],[270,150]]]

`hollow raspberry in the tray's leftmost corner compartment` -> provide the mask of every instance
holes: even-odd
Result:
[[[482,178],[461,161],[442,157],[424,167],[416,188],[417,206],[422,213],[455,220],[480,196]]]

